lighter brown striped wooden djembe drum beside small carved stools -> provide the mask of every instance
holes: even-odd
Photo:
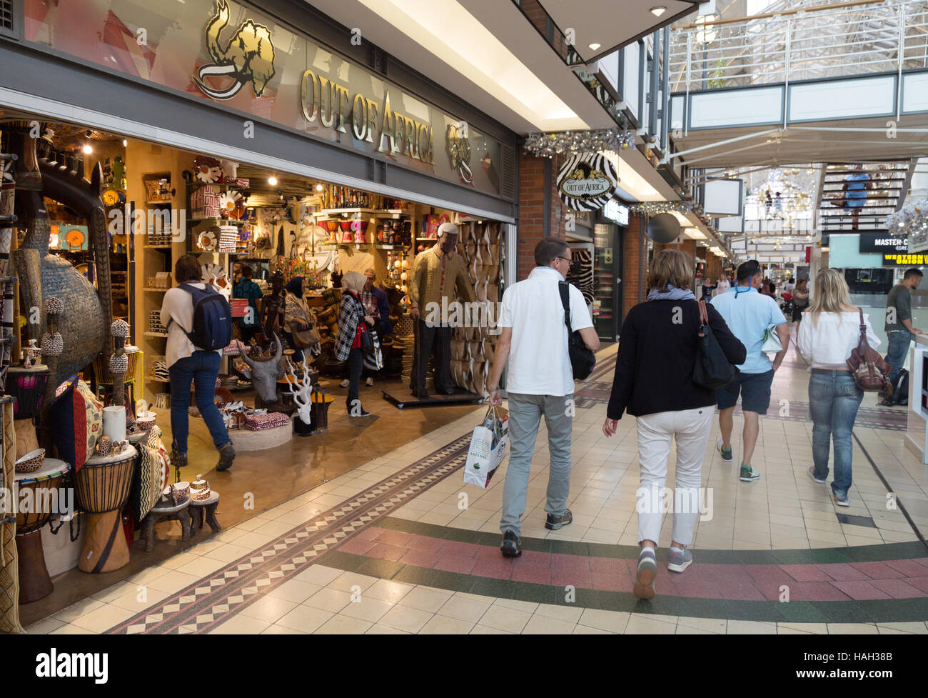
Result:
[[[77,504],[89,514],[77,564],[81,572],[112,572],[129,562],[121,514],[132,492],[135,455],[135,448],[126,446],[112,456],[94,456],[74,475]]]

